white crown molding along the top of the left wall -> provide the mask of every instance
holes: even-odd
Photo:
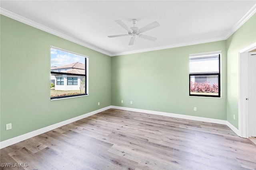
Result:
[[[38,28],[38,29],[40,29],[40,30],[42,30],[42,31],[46,31],[46,32],[48,32],[48,33],[50,33],[50,34],[56,35],[56,36],[58,36],[58,37],[61,37],[61,38],[63,38],[63,39],[66,39],[66,40],[68,40],[68,41],[71,41],[71,42],[73,42],[73,43],[76,43],[76,44],[78,44],[78,45],[82,45],[82,46],[84,46],[84,47],[86,47],[86,48],[88,48],[88,49],[92,49],[92,50],[94,50],[94,51],[98,51],[99,53],[102,53],[102,54],[105,54],[105,55],[108,55],[108,56],[112,56],[110,53],[108,53],[108,52],[106,52],[106,51],[104,51],[104,50],[102,50],[102,49],[98,49],[98,48],[96,48],[96,47],[93,47],[93,46],[91,46],[91,45],[88,45],[88,44],[86,44],[86,43],[84,43],[84,42],[82,42],[82,41],[79,41],[78,39],[72,38],[72,37],[70,37],[70,36],[68,36],[68,35],[65,35],[65,34],[63,34],[63,33],[60,33],[60,32],[58,32],[58,31],[55,31],[54,29],[51,29],[51,28],[46,27],[46,26],[44,26],[44,25],[41,25],[40,23],[34,22],[34,21],[29,20],[29,19],[27,19],[27,18],[25,18],[25,17],[22,17],[22,16],[20,16],[20,15],[18,15],[18,14],[15,14],[15,13],[13,13],[13,12],[10,12],[10,11],[8,11],[8,10],[5,10],[4,8],[0,8],[0,14],[2,14],[2,15],[4,15],[4,16],[7,16],[7,17],[9,17],[9,18],[12,18],[12,19],[14,19],[14,20],[20,21],[20,22],[22,22],[22,23],[25,23],[25,24],[27,24],[27,25],[30,25],[30,26],[32,26],[32,27]]]

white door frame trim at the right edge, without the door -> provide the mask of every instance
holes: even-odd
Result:
[[[254,49],[256,42],[239,51],[238,135],[244,138],[248,138],[248,52]]]

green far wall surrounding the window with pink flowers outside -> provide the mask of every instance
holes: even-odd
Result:
[[[221,98],[189,97],[189,54],[210,51],[222,51]],[[112,57],[112,105],[226,120],[225,41]]]

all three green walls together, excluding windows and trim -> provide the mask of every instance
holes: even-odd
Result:
[[[228,120],[238,128],[238,51],[256,42],[256,14],[226,41],[116,57],[2,15],[0,21],[0,141],[110,105]],[[89,96],[50,101],[51,45],[89,56]],[[189,97],[189,54],[210,51],[222,51],[221,98]]]

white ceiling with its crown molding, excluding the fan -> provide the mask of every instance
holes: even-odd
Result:
[[[110,56],[224,40],[256,12],[256,0],[0,2],[5,16]],[[127,33],[115,20],[132,27],[132,19],[139,28],[158,21],[143,33],[158,39],[128,46],[130,37],[107,37]]]

